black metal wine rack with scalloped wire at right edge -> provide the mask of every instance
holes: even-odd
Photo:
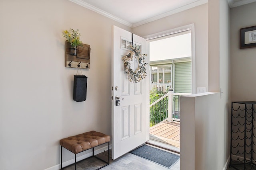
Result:
[[[256,102],[232,102],[230,167],[256,170]]]

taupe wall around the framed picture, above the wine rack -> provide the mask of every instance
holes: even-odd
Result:
[[[256,101],[256,48],[239,49],[239,29],[256,25],[256,2],[231,8],[231,100]]]

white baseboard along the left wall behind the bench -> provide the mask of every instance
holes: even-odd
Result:
[[[112,145],[109,145],[109,149],[111,149],[111,148],[112,148]],[[105,150],[108,150],[108,146],[105,146],[105,147],[102,147],[102,148],[99,148],[99,149],[95,149],[94,150],[94,154],[95,155],[99,154],[101,152],[104,152]],[[92,155],[93,155],[93,153],[91,151],[89,153],[86,153],[86,154],[83,154],[81,156],[78,156],[78,157],[76,157],[76,162],[78,162],[80,160],[83,160],[85,158],[88,158],[88,157],[90,157]],[[75,158],[71,159],[71,160],[68,160],[66,162],[62,162],[62,167],[65,167],[65,166],[68,166],[68,165],[71,165],[71,164],[74,164],[74,163],[75,163]],[[58,164],[58,165],[52,166],[50,168],[47,168],[45,170],[60,170],[60,166],[61,166],[61,164]]]

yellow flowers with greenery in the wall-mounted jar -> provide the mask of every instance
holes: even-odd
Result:
[[[63,37],[67,39],[67,41],[71,44],[71,48],[76,46],[82,46],[82,41],[80,41],[80,33],[79,30],[71,29],[63,31]]]

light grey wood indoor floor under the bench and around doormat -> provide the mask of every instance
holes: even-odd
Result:
[[[99,154],[98,156],[104,158],[104,160],[107,160],[107,155],[108,152],[105,152],[104,154]],[[76,170],[95,170],[102,165],[104,165],[104,162],[98,160],[97,158],[91,157],[78,162],[76,165]],[[74,165],[70,165],[63,168],[62,170],[74,169]],[[169,169],[134,154],[126,153],[123,156],[117,158],[116,160],[112,160],[110,158],[110,164],[105,166],[101,170],[180,170],[180,161],[178,161]]]

